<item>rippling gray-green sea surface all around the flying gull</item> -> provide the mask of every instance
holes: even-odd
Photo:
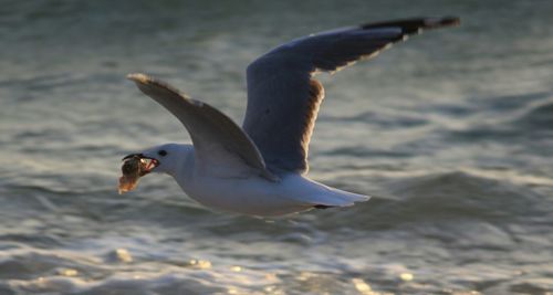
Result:
[[[215,212],[121,158],[189,136],[145,72],[236,122],[294,38],[459,15],[322,74],[311,178],[374,196]],[[1,1],[0,294],[553,294],[553,1]]]

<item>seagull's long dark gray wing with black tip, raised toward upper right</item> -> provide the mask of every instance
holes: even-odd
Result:
[[[274,171],[306,172],[307,149],[324,97],[316,71],[338,71],[375,56],[390,44],[459,23],[457,18],[417,18],[323,32],[294,40],[248,66],[248,108],[243,129]]]

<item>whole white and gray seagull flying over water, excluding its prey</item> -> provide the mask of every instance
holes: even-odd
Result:
[[[217,108],[145,74],[127,78],[188,130],[192,145],[164,144],[124,160],[148,160],[184,192],[220,211],[275,217],[348,207],[371,197],[310,179],[307,150],[324,97],[317,72],[336,72],[372,59],[422,30],[453,27],[456,17],[367,23],[311,34],[282,44],[248,66],[248,106],[240,127]]]

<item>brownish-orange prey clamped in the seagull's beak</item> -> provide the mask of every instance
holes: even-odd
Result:
[[[119,194],[134,190],[140,177],[152,172],[157,166],[159,166],[157,159],[146,157],[143,154],[131,154],[123,158],[121,167],[123,176],[119,177],[118,186]]]

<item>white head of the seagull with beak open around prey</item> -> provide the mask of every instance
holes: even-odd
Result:
[[[150,172],[171,173],[175,171],[182,151],[181,145],[165,144],[127,155],[123,160],[125,161],[132,158],[144,160],[146,162],[146,168],[140,172],[140,176]]]

